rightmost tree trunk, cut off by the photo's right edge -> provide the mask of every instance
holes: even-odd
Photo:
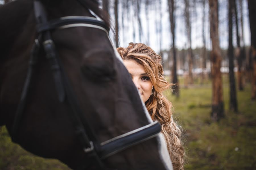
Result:
[[[256,100],[256,1],[248,0],[249,22],[251,29],[251,59],[252,59],[252,78],[251,78],[251,99]]]

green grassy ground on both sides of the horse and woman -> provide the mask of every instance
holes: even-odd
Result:
[[[180,78],[180,81],[183,80]],[[195,84],[180,89],[177,99],[168,90],[174,118],[183,127],[186,151],[185,169],[256,169],[256,102],[250,99],[250,85],[238,91],[238,113],[228,111],[229,88],[224,77],[224,107],[226,117],[212,122],[211,84]],[[199,83],[199,81],[195,81]],[[3,127],[0,131],[0,169],[68,169],[57,160],[35,157],[11,142]]]

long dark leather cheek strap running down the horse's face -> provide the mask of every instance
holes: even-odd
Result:
[[[49,23],[59,23],[59,26],[61,27],[61,26],[65,26],[64,24],[68,24],[68,25],[76,24],[79,20],[77,19],[77,20],[74,20],[74,22],[71,22],[71,19],[61,19],[59,20],[59,22],[57,22],[57,20],[55,20],[54,22],[48,22],[44,6],[38,0],[34,1],[34,10],[35,10],[36,20],[39,26],[49,25]],[[65,21],[68,21],[68,22],[65,22]],[[80,23],[80,20],[79,20],[79,23]],[[40,28],[39,26],[37,28]],[[49,63],[51,65],[56,89],[58,90],[60,88],[60,90],[58,91],[59,101],[64,102],[64,99],[66,99],[65,101],[67,101],[67,103],[69,104],[69,108],[71,111],[69,112],[70,118],[73,122],[75,133],[80,141],[80,144],[84,149],[84,152],[87,154],[87,157],[91,158],[93,161],[96,161],[96,165],[98,169],[105,169],[102,161],[100,160],[96,152],[95,146],[97,146],[97,141],[98,141],[96,139],[96,135],[94,134],[91,126],[89,126],[89,123],[82,116],[83,115],[82,111],[80,110],[77,99],[70,86],[68,77],[66,76],[65,71],[62,68],[61,61],[59,60],[59,57],[55,50],[55,45],[53,43],[53,40],[51,38],[51,33],[50,33],[50,30],[55,26],[56,25],[53,25],[49,27],[49,29],[44,29],[43,31],[38,30],[38,33],[42,33],[42,37],[43,37],[42,44],[46,52],[46,58],[48,58]],[[90,137],[88,137],[88,135]],[[94,142],[92,142],[91,140]]]

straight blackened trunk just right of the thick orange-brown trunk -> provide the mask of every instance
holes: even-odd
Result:
[[[228,58],[229,58],[229,85],[230,85],[230,105],[232,111],[237,112],[236,82],[234,76],[234,47],[233,47],[233,14],[235,0],[228,1]],[[239,48],[239,47],[238,47]]]

